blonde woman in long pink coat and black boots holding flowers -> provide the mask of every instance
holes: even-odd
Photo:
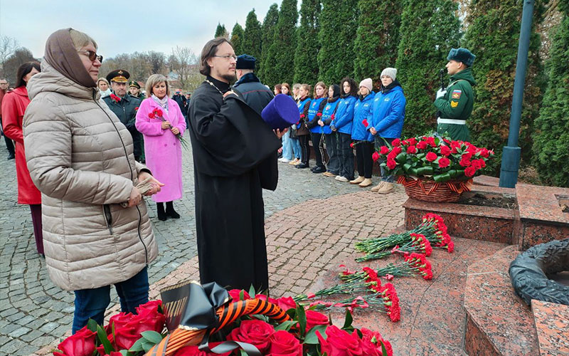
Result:
[[[147,95],[137,112],[136,127],[144,135],[144,152],[147,167],[154,177],[164,183],[156,201],[158,219],[166,216],[179,219],[173,201],[182,197],[182,150],[179,137],[186,131],[186,120],[178,104],[169,98],[168,80],[161,74],[153,74],[147,80]],[[166,210],[164,210],[166,202]]]

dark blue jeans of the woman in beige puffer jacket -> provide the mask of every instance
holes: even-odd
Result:
[[[115,283],[120,300],[120,309],[124,313],[136,314],[137,306],[148,301],[148,271],[144,267],[142,271],[127,279],[127,281]],[[75,290],[75,313],[73,314],[73,333],[87,325],[89,319],[95,320],[102,325],[105,318],[105,310],[111,302],[111,286],[94,289]]]

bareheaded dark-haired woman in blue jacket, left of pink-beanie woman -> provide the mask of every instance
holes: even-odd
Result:
[[[344,78],[340,83],[340,88],[342,95],[330,128],[332,131],[338,132],[340,172],[336,176],[336,180],[349,182],[353,180],[353,149],[350,144],[353,107],[358,101],[358,87],[352,78]]]

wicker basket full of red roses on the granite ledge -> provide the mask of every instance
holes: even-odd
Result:
[[[481,173],[493,150],[438,134],[395,139],[374,152],[381,167],[398,177],[409,197],[422,201],[458,201],[468,192],[472,177]]]

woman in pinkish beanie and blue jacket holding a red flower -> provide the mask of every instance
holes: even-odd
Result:
[[[359,98],[353,107],[353,123],[351,127],[351,139],[356,146],[356,165],[359,177],[350,181],[350,184],[358,184],[365,188],[371,186],[371,171],[373,169],[373,136],[367,130],[369,126],[368,115],[376,93],[373,93],[373,82],[366,78],[360,83]],[[366,126],[367,125],[367,126]]]

